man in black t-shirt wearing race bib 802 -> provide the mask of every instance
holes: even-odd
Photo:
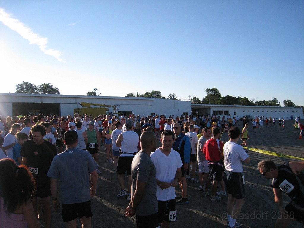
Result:
[[[42,198],[42,205],[44,209],[44,222],[47,228],[50,228],[51,223],[51,207],[50,207],[50,178],[47,176],[51,162],[57,154],[55,145],[46,140],[45,127],[36,124],[31,129],[33,139],[26,140],[20,151],[22,158],[22,165],[29,167],[29,171],[33,174],[36,180],[36,197],[33,197],[33,207],[38,218],[37,213],[37,197]]]

